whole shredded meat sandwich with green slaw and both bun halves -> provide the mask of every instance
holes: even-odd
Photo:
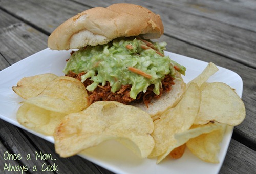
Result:
[[[70,50],[63,72],[86,86],[89,103],[135,105],[157,119],[183,95],[186,68],[164,55],[159,15],[134,4],[83,11],[57,27],[51,50]],[[181,75],[182,74],[182,75]]]

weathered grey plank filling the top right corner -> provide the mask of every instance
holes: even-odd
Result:
[[[214,19],[249,31],[256,31],[256,5],[253,1],[163,0],[162,2],[184,13]]]

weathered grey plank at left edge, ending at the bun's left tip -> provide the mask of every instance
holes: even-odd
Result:
[[[3,11],[1,11],[0,17],[2,18],[0,20],[0,53],[3,58],[8,59],[9,64],[47,48],[47,35]]]

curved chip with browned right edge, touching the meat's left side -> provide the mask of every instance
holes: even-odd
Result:
[[[58,77],[37,97],[26,100],[45,110],[70,114],[87,108],[88,94],[84,85],[72,77]]]

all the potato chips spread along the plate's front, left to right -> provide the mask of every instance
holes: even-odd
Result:
[[[69,157],[115,139],[141,158],[180,158],[187,147],[206,162],[218,163],[226,126],[245,118],[241,98],[222,82],[206,82],[218,71],[214,63],[186,87],[179,103],[153,119],[135,106],[95,102],[89,106],[83,84],[71,77],[42,74],[13,87],[25,98],[17,120],[36,132],[54,136],[55,149]]]

